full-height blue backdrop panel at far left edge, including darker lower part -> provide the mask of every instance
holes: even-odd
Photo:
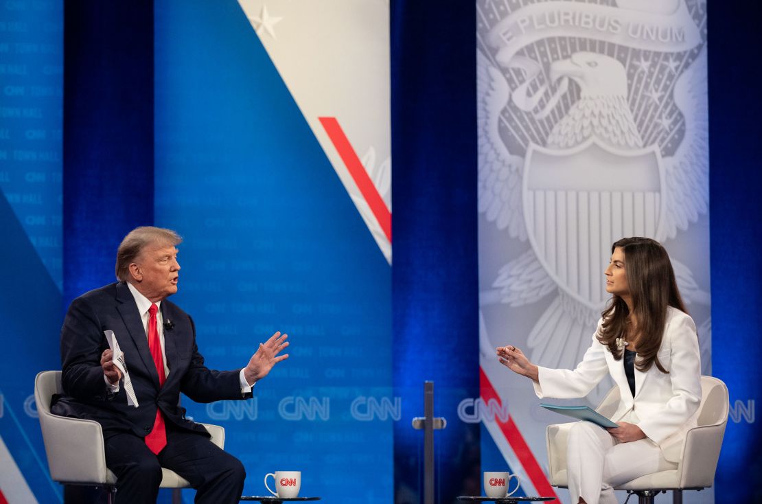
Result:
[[[60,0],[0,4],[0,437],[39,502],[60,500],[33,384],[59,365],[62,31]]]

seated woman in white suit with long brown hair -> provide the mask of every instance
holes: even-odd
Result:
[[[696,325],[667,251],[648,238],[620,239],[611,251],[612,297],[575,370],[536,366],[513,345],[497,349],[501,364],[530,377],[540,398],[585,396],[607,373],[620,388],[612,417],[619,427],[578,422],[569,432],[569,493],[572,502],[588,504],[616,502],[614,486],[676,468],[701,400]]]

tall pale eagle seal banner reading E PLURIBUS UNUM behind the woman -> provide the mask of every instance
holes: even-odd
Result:
[[[476,9],[482,401],[509,413],[482,416],[482,466],[507,464],[526,495],[566,502],[546,477],[545,428],[563,420],[495,347],[574,368],[608,299],[611,244],[649,236],[670,253],[711,373],[706,2]],[[584,400],[597,406],[611,385]]]

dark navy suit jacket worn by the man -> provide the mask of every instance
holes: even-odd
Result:
[[[103,427],[104,438],[125,431],[142,437],[151,432],[156,408],[161,408],[167,422],[207,434],[203,425],[185,419],[185,409],[179,405],[181,392],[199,403],[251,397],[241,393],[240,369],[214,371],[203,365],[191,316],[168,300],[162,301],[161,310],[169,368],[163,387],[159,387],[146,330],[126,283],[110,284],[72,301],[61,329],[63,394],[53,400],[52,413],[95,420]],[[166,326],[168,321],[171,328]],[[123,384],[119,392],[110,393],[104,380],[101,354],[108,348],[106,330],[114,331],[124,352],[137,408],[127,404]]]

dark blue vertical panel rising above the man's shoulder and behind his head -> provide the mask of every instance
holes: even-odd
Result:
[[[114,281],[153,220],[153,2],[66,2],[64,300]]]

